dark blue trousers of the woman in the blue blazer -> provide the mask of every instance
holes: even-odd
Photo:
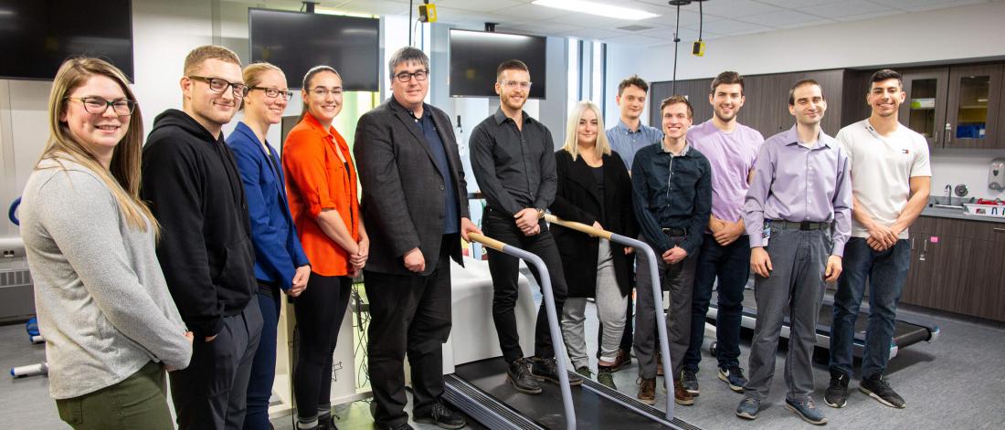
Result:
[[[261,341],[251,363],[248,381],[247,413],[244,429],[268,430],[268,399],[275,381],[275,334],[279,324],[279,288],[258,283],[258,308],[261,309]]]

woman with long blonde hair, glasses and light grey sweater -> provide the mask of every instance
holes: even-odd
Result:
[[[143,118],[126,76],[71,58],[21,202],[49,392],[75,429],[171,429],[165,371],[192,356],[140,200]]]

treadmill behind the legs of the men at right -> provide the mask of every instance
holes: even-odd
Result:
[[[830,349],[830,325],[831,318],[834,315],[833,309],[834,299],[830,296],[825,296],[823,304],[820,306],[820,314],[817,317],[816,327],[816,346],[825,350]],[[862,303],[858,309],[858,317],[855,319],[853,354],[858,358],[862,357],[862,352],[865,348],[865,327],[868,324],[868,304]],[[719,305],[714,297],[712,302],[709,303],[709,312],[706,314],[706,320],[715,326],[718,315]],[[740,320],[741,327],[754,330],[757,321],[757,302],[754,299],[753,289],[744,290],[744,310]],[[790,327],[789,315],[786,312],[785,319],[782,322],[782,338],[789,339]],[[908,348],[923,341],[928,343],[935,342],[939,338],[939,326],[898,315],[893,326],[893,339],[889,344],[889,358],[896,357],[901,348]],[[709,348],[709,352],[713,357],[716,356],[715,342]]]

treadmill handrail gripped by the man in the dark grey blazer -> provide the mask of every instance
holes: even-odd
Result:
[[[559,388],[562,389],[562,406],[565,409],[566,428],[576,429],[576,408],[572,403],[572,388],[569,386],[569,371],[566,368],[566,360],[569,356],[565,351],[565,343],[562,342],[562,330],[559,326],[558,311],[555,308],[555,293],[552,291],[552,279],[549,275],[548,266],[541,257],[504,243],[479,233],[467,233],[467,238],[492,248],[505,254],[521,258],[538,269],[541,275],[541,291],[545,296],[545,310],[548,315],[548,329],[552,334],[552,348],[555,350],[555,363],[558,366]]]

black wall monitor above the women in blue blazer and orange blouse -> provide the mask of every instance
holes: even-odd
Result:
[[[380,20],[320,13],[248,9],[251,61],[282,69],[298,88],[311,67],[335,67],[349,91],[380,89]]]

